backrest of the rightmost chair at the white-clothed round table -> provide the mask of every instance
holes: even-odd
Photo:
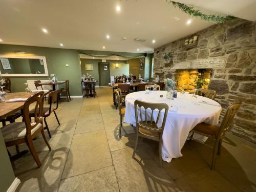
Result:
[[[240,106],[241,106],[241,101],[238,101],[238,100],[228,106],[226,114],[221,122],[221,126],[219,129],[217,138],[223,136],[223,133],[225,133],[230,129],[230,127],[232,126],[234,116],[236,116]]]

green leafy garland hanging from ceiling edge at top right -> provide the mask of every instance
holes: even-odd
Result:
[[[221,16],[221,15],[212,15],[212,14],[204,14],[199,10],[194,10],[194,8],[192,6],[187,6],[185,4],[182,3],[178,3],[178,2],[173,2],[170,0],[165,0],[166,2],[168,2],[169,4],[172,3],[174,5],[174,7],[178,7],[180,10],[182,10],[184,13],[187,13],[189,15],[195,16],[195,17],[200,17],[203,20],[207,20],[208,22],[214,22],[214,23],[224,23],[224,22],[229,22],[237,17],[233,17],[230,15],[227,16]]]

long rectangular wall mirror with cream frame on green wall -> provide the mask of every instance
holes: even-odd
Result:
[[[46,57],[0,55],[0,74],[3,77],[48,76]]]

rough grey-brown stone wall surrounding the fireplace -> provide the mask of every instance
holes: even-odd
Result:
[[[185,45],[185,39],[193,35],[198,35],[198,42]],[[173,57],[166,57],[168,53]],[[230,131],[256,143],[255,22],[237,19],[213,25],[155,49],[154,75],[159,75],[160,80],[175,77],[179,62],[213,58],[224,59],[224,67],[212,65],[209,84],[209,89],[217,92],[216,100],[223,107],[220,120],[229,104],[235,99],[241,100],[242,106]]]

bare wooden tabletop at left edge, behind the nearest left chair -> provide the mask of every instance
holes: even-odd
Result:
[[[8,93],[6,96],[6,100],[16,99],[16,98],[29,98],[31,95],[36,93]],[[0,102],[0,118],[5,118],[6,116],[21,110],[23,108],[25,101],[20,102]]]

